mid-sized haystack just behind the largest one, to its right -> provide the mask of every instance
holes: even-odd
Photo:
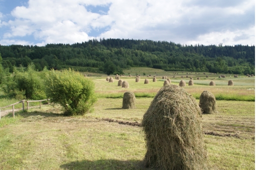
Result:
[[[217,113],[216,99],[210,91],[203,91],[200,95],[199,106],[203,113]]]

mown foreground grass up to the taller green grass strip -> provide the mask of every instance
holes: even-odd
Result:
[[[138,98],[136,109],[124,110],[122,99],[101,98],[84,117],[61,116],[47,106],[20,113],[0,128],[0,169],[140,169],[146,151],[141,128],[99,118],[140,122],[151,101]],[[204,131],[239,138],[205,135],[210,169],[253,169],[255,102],[217,104],[219,113],[202,116]]]

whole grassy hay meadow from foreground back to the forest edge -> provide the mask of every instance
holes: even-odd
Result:
[[[140,123],[163,86],[162,76],[178,85],[186,72],[176,72],[177,75],[158,69],[132,68],[124,73],[120,78],[129,82],[129,89],[118,87],[118,80],[108,83],[106,75],[87,77],[95,82],[98,101],[94,111],[85,116],[63,116],[59,106],[44,105],[41,109],[38,106],[19,111],[15,118],[11,114],[2,117],[0,169],[145,169],[142,161],[146,148],[141,127],[105,120]],[[141,75],[139,83],[135,82],[136,74]],[[149,74],[151,77],[147,77]],[[183,80],[188,83],[189,77],[194,78],[194,86],[186,84],[184,89],[198,103],[204,90],[211,91],[217,99],[218,113],[202,115],[209,169],[254,169],[254,77],[226,75],[227,78],[219,79],[219,75],[206,75],[188,72],[188,78]],[[157,82],[152,82],[153,76]],[[145,78],[150,80],[149,84],[144,84]],[[227,86],[228,80],[233,80],[234,86]],[[210,81],[215,81],[216,86],[209,86]],[[121,109],[126,91],[135,93],[136,109]],[[8,99],[0,100],[8,104]]]

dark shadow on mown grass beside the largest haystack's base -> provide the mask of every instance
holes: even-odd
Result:
[[[116,159],[100,159],[100,160],[82,160],[73,161],[60,165],[63,169],[94,169],[94,170],[117,170],[117,169],[147,169],[143,167],[142,160],[116,160]]]

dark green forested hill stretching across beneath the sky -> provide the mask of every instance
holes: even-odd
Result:
[[[80,71],[122,73],[130,67],[152,67],[166,71],[197,71],[255,74],[255,46],[222,44],[180,45],[166,41],[100,39],[76,44],[44,47],[1,46],[4,68],[27,66],[38,70],[73,67]]]

